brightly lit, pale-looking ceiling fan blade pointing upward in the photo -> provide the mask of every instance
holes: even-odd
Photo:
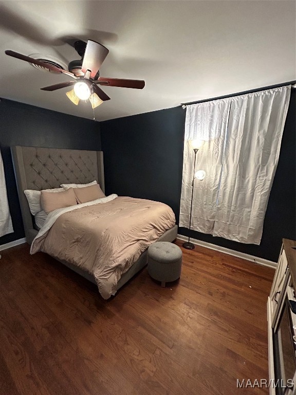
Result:
[[[109,50],[102,44],[88,40],[84,52],[81,70],[86,73],[90,70],[90,78],[95,78],[101,64],[104,62]]]

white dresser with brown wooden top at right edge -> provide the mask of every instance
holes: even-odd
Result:
[[[270,395],[296,395],[296,242],[283,239],[267,302]]]

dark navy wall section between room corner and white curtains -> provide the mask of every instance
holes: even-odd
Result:
[[[177,107],[100,122],[106,193],[166,203],[178,218],[184,121]]]

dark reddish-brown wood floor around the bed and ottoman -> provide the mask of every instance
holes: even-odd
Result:
[[[177,242],[178,245],[181,245]],[[167,288],[146,268],[112,300],[23,244],[0,260],[1,395],[235,395],[268,379],[271,268],[183,250]]]

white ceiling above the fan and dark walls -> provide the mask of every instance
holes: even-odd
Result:
[[[143,79],[144,89],[102,87],[96,120],[146,113],[296,79],[295,1],[0,1],[0,97],[93,118],[72,104],[68,81],[5,55],[79,59],[66,38],[109,49],[101,77]]]

